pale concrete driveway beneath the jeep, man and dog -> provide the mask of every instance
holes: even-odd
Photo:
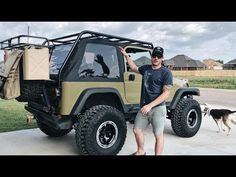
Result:
[[[209,91],[209,90],[207,90]],[[201,90],[203,95],[208,97],[198,98],[199,101],[214,103],[211,94]],[[233,94],[232,94],[233,92]],[[236,100],[236,91],[229,92],[230,99]],[[212,91],[210,90],[210,93]],[[217,92],[219,93],[219,91]],[[222,92],[227,95],[227,92]],[[213,92],[214,95],[214,92]],[[229,108],[236,110],[236,107],[223,102],[212,104],[213,108]],[[210,100],[210,102],[209,102]],[[218,103],[218,102],[217,102]],[[236,104],[234,104],[236,105]],[[236,120],[235,114],[233,117]],[[132,132],[132,124],[128,123],[126,142],[118,155],[129,155],[136,150],[136,143]],[[199,132],[191,138],[181,138],[174,134],[169,120],[165,125],[165,147],[164,155],[235,155],[236,154],[236,125],[231,124],[231,135],[216,133],[217,126],[214,120],[208,116],[203,117]],[[39,129],[21,130],[7,133],[0,133],[0,155],[79,155],[74,139],[74,130],[68,135],[60,138],[50,138]],[[147,155],[154,154],[154,136],[151,127],[145,130],[145,148]]]

